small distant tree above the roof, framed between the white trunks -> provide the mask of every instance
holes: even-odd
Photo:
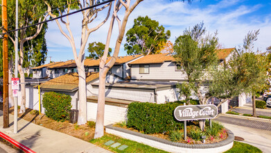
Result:
[[[87,58],[98,59],[103,56],[103,52],[105,51],[105,45],[102,42],[91,42],[89,43],[89,47],[87,48],[89,51],[89,56]],[[110,56],[112,49],[108,49],[108,57]]]

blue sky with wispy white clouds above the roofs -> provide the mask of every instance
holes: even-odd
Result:
[[[132,0],[134,2],[134,0]],[[239,48],[243,45],[243,39],[249,31],[260,29],[258,40],[254,43],[254,50],[265,51],[271,46],[271,1],[269,0],[193,0],[187,1],[171,0],[144,0],[134,9],[128,19],[126,31],[132,28],[134,19],[139,16],[148,15],[151,19],[159,22],[159,25],[171,31],[171,42],[182,35],[185,29],[204,22],[209,33],[218,31],[218,40],[222,48]],[[98,25],[107,14],[103,10],[98,14],[97,19],[89,24],[89,27]],[[123,11],[119,13],[119,18],[123,18]],[[76,41],[76,49],[80,49],[80,34],[82,13],[69,16],[70,27]],[[94,33],[89,35],[85,56],[89,56],[87,51],[89,42],[103,42],[105,44],[110,19]],[[117,24],[114,25],[110,47],[114,51],[116,37],[119,33]],[[65,30],[64,25],[62,28]],[[125,31],[125,32],[126,32]],[[124,50],[126,38],[123,38],[119,56],[126,56]],[[60,33],[55,22],[49,22],[49,29],[46,32],[46,42],[48,48],[48,58],[46,63],[51,61],[67,61],[74,59],[71,45],[67,38]]]

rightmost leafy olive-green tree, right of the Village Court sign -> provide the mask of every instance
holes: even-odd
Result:
[[[249,32],[243,40],[242,48],[237,49],[225,67],[216,67],[211,71],[209,96],[217,97],[223,102],[242,93],[252,94],[253,115],[256,116],[255,95],[262,90],[267,79],[265,56],[253,51],[253,43],[259,31]]]

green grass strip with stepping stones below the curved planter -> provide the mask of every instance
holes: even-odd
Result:
[[[121,145],[128,145],[125,150],[118,150],[118,147],[110,147],[105,145],[105,143],[109,140],[114,140],[114,143],[121,143]],[[128,140],[125,138],[119,138],[118,136],[114,136],[112,134],[105,134],[105,136],[97,139],[90,140],[90,143],[94,145],[98,145],[99,147],[103,147],[111,152],[166,152],[164,150],[159,150],[155,147],[150,147],[148,145],[143,145],[142,143],[137,143],[133,140]],[[120,146],[121,146],[120,145]]]

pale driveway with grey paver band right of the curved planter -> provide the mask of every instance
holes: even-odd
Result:
[[[252,104],[245,104],[231,111],[252,114]],[[271,116],[271,109],[256,108],[256,114]],[[242,143],[258,147],[264,153],[271,152],[271,120],[229,114],[220,114],[214,120],[231,130],[234,136],[244,138]]]

